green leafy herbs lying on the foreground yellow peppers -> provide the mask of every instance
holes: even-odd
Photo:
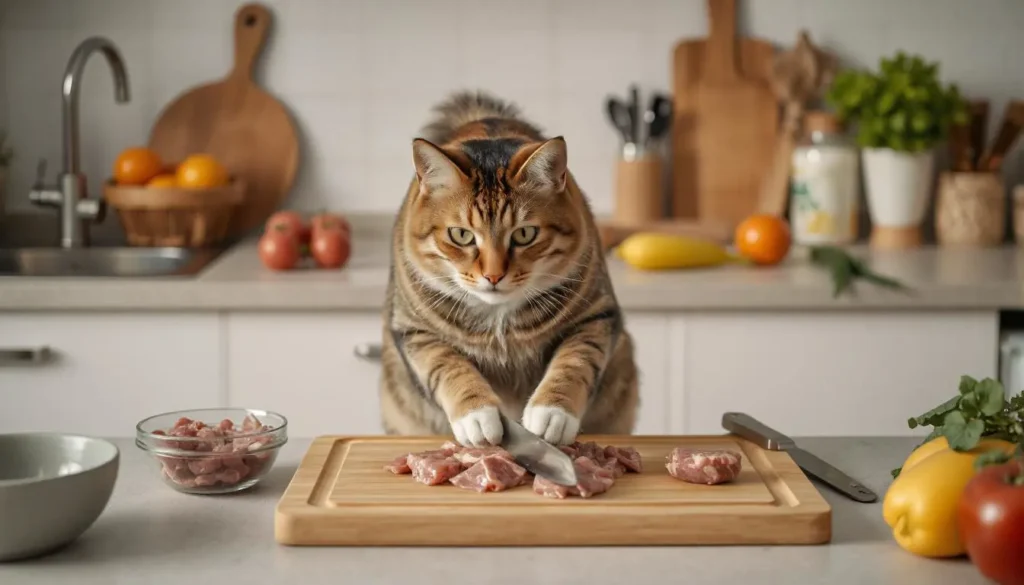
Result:
[[[1008,399],[998,380],[971,376],[961,376],[958,390],[956,396],[907,420],[910,428],[932,427],[922,445],[945,436],[953,451],[970,451],[983,437],[992,437],[1017,444],[1017,454],[1024,454],[1024,391]],[[893,469],[893,477],[899,472]]]

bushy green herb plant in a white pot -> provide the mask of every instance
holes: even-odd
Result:
[[[877,72],[841,72],[825,99],[857,128],[871,244],[920,245],[937,147],[968,118],[959,89],[941,83],[937,62],[899,51]]]

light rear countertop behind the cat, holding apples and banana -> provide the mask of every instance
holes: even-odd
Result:
[[[356,224],[341,270],[273,273],[256,241],[224,252],[197,277],[84,279],[0,277],[0,310],[378,310],[387,285],[387,234],[380,218]],[[915,294],[856,285],[834,299],[827,274],[795,251],[781,266],[719,266],[646,273],[614,257],[609,267],[627,310],[1009,309],[1024,307],[1024,249],[853,250]]]

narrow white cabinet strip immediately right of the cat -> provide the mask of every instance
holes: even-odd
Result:
[[[640,377],[640,408],[634,434],[669,433],[669,323],[666,314],[626,315],[626,330],[633,337]]]

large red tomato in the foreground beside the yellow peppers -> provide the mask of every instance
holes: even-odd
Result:
[[[971,562],[999,585],[1024,585],[1024,463],[982,468],[961,495],[961,540]]]

